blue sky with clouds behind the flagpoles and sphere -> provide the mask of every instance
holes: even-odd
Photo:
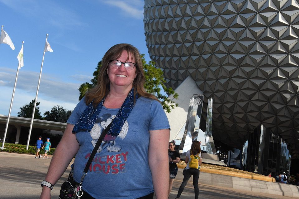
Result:
[[[40,113],[55,105],[73,110],[78,88],[90,82],[97,63],[115,44],[129,43],[150,61],[143,23],[144,0],[0,0],[0,26],[15,50],[0,45],[0,114],[8,115],[24,41],[11,116],[36,96],[46,34],[46,52],[37,101]]]

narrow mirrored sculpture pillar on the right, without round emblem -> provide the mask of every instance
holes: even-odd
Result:
[[[217,155],[216,147],[213,140],[213,99],[208,99],[206,113],[206,153]]]

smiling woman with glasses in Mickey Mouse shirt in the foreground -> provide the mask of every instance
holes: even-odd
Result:
[[[74,180],[80,182],[102,130],[119,116],[129,98],[134,99],[134,103],[129,104],[134,108],[118,133],[113,129],[102,141],[83,180],[81,199],[145,199],[153,198],[154,192],[156,198],[167,198],[168,155],[163,146],[169,141],[169,123],[157,98],[145,92],[144,82],[140,53],[135,47],[117,44],[106,52],[97,85],[86,93],[67,121],[46,182],[54,185],[74,156]],[[95,116],[91,130],[83,132],[79,131],[77,124],[86,119],[81,114],[89,111],[87,107],[96,111],[100,109],[100,112]],[[91,114],[93,118],[95,113]],[[43,186],[40,198],[50,197],[50,188]]]

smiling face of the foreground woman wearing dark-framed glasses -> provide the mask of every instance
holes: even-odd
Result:
[[[132,62],[135,63],[135,59],[131,57],[131,54],[129,54],[127,51],[122,51],[121,56],[119,58],[116,58],[116,60],[121,62]],[[127,70],[123,63],[121,63],[121,66],[118,68],[114,68],[111,66],[111,63],[109,62],[109,66],[107,68],[107,74],[110,81],[110,89],[117,88],[117,87],[123,87],[126,89],[127,87],[129,89],[133,86],[133,81],[136,77],[136,66],[133,67],[132,70]]]

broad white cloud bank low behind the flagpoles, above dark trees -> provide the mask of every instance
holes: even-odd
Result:
[[[0,114],[8,114],[15,76],[16,70],[0,67]],[[38,78],[38,72],[19,71],[12,115],[16,116],[21,106],[29,104],[29,102],[35,98]],[[89,80],[90,78],[85,81]],[[40,102],[40,112],[44,113],[45,111],[51,110],[55,105],[63,106],[68,110],[74,109],[78,103],[78,88],[80,84],[81,83],[64,82],[57,79],[54,75],[42,74],[37,100]]]

